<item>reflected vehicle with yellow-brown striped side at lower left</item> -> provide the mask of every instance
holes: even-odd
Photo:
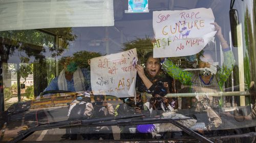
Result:
[[[12,104],[1,113],[1,127],[4,123],[10,127],[13,123],[27,126],[58,120],[66,120],[68,104],[80,93],[58,93],[48,97]],[[63,114],[63,115],[62,115]],[[63,118],[64,117],[64,118]],[[23,126],[21,125],[21,126]]]

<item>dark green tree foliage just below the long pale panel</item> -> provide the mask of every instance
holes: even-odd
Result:
[[[53,35],[61,36],[59,40],[61,45],[55,45],[55,36]],[[37,30],[0,32],[2,44],[9,45],[2,50],[8,55],[12,55],[15,50],[25,51],[29,57],[35,56],[35,59],[40,59],[45,57],[42,53],[46,52],[46,48],[48,48],[51,55],[55,57],[67,50],[69,42],[76,38],[76,35],[72,33],[72,28],[55,28],[53,35]]]

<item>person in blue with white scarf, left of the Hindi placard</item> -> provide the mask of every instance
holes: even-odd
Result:
[[[52,79],[44,92],[52,90],[90,91],[90,80],[90,71],[86,68],[80,69],[75,63],[74,58],[67,57],[63,63],[63,70],[59,73],[59,76]]]

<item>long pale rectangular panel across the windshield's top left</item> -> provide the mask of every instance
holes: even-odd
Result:
[[[113,1],[3,1],[1,29],[112,26]]]

